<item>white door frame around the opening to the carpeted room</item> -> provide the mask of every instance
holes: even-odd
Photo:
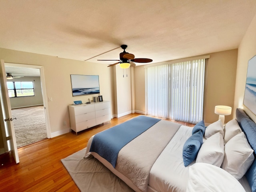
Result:
[[[41,79],[41,86],[42,86],[42,96],[43,96],[43,104],[44,104],[44,114],[45,114],[45,121],[46,121],[47,138],[52,138],[51,129],[50,129],[49,112],[48,112],[48,102],[47,102],[45,78],[44,78],[44,66],[6,63],[6,62],[4,63],[4,66],[40,69],[40,79]]]

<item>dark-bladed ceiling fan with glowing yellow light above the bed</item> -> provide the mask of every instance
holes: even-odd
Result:
[[[114,64],[109,65],[108,67],[120,64],[121,68],[129,68],[131,67],[135,67],[136,63],[149,63],[152,62],[152,59],[148,59],[148,58],[134,58],[134,54],[130,54],[128,52],[125,51],[125,49],[127,48],[127,45],[121,45],[121,48],[124,50],[123,52],[121,52],[119,54],[120,56],[120,60],[98,60],[98,61],[118,61]]]

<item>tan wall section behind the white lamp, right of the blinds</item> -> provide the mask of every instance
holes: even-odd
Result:
[[[234,92],[236,81],[236,63],[238,50],[228,50],[210,54],[207,69],[205,116],[206,123],[218,120],[214,114],[216,105],[232,107],[234,112]],[[232,114],[225,116],[225,122],[232,120]]]

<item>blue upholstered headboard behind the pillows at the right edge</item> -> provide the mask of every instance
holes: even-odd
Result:
[[[246,172],[246,178],[252,192],[256,192],[256,124],[240,108],[236,109],[236,120],[246,135],[248,143],[254,150],[254,162]]]

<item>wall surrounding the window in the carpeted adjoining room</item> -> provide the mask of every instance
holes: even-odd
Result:
[[[34,82],[34,96],[29,97],[13,97],[10,98],[11,108],[36,106],[43,104],[42,87],[40,77],[21,77],[8,79],[7,81],[23,81],[23,82]]]

